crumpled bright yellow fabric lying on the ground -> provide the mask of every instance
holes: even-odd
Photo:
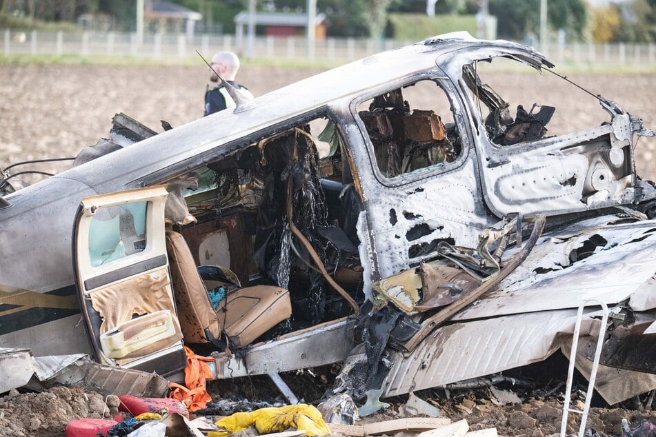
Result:
[[[226,432],[212,431],[208,437],[223,437],[255,425],[259,434],[283,432],[288,428],[306,431],[306,436],[329,436],[330,428],[321,413],[312,405],[286,405],[278,408],[261,408],[248,413],[235,413],[222,418],[217,427]]]

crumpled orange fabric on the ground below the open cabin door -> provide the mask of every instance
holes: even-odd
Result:
[[[187,354],[187,367],[184,369],[184,385],[169,383],[172,391],[168,395],[171,399],[179,400],[187,407],[190,413],[207,407],[212,397],[206,390],[205,380],[213,379],[210,367],[205,361],[214,361],[214,358],[194,354],[191,349],[184,347]]]

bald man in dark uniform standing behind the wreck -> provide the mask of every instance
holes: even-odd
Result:
[[[237,71],[239,71],[239,58],[236,54],[232,52],[218,52],[212,57],[212,68],[219,73],[219,76],[221,76],[224,81],[227,81],[230,85],[237,88],[241,94],[244,94],[250,99],[253,98],[250,91],[235,82]],[[210,81],[219,81],[219,77],[217,77],[217,74],[211,69],[210,74]],[[203,116],[234,107],[235,101],[232,101],[230,94],[228,94],[228,91],[226,90],[226,86],[223,85],[222,82],[211,90],[208,85],[208,90],[205,92],[205,113]]]

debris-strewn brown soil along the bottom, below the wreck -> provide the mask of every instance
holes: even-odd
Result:
[[[514,394],[520,399],[519,403],[504,403],[499,398],[499,392]],[[536,391],[537,392],[537,391]],[[443,390],[443,393],[444,392]],[[577,394],[579,392],[575,392]],[[137,431],[141,428],[142,435],[155,434],[159,423],[172,429],[187,429],[179,431],[189,436],[227,436],[222,429],[233,429],[226,426],[230,420],[225,420],[219,411],[237,411],[240,416],[241,427],[234,428],[235,437],[256,437],[270,431],[286,431],[288,428],[307,431],[310,425],[317,424],[313,431],[327,432],[333,436],[365,437],[375,435],[408,437],[494,437],[494,436],[530,436],[544,437],[559,433],[562,418],[562,395],[548,394],[546,396],[527,396],[521,390],[514,391],[506,387],[490,390],[489,387],[477,389],[458,389],[449,392],[448,397],[437,391],[420,392],[407,398],[390,399],[391,407],[379,411],[366,418],[353,421],[352,424],[329,423],[329,420],[340,420],[343,410],[323,409],[326,416],[321,416],[319,409],[311,405],[286,405],[282,407],[267,407],[268,414],[261,414],[258,428],[257,419],[252,426],[241,418],[252,419],[254,412],[258,411],[256,405],[271,405],[266,401],[250,402],[248,400],[220,399],[208,404],[212,416],[185,416],[175,411],[183,411],[184,406],[169,398],[136,398],[134,396],[102,396],[97,392],[84,392],[80,388],[54,387],[48,392],[39,394],[19,393],[12,390],[6,396],[0,397],[0,435],[2,436],[96,436],[102,431],[103,436],[125,436],[124,431]],[[341,405],[348,414],[352,411],[344,396],[343,402],[333,399],[330,405]],[[409,401],[409,402],[408,402]],[[119,414],[126,410],[127,403],[131,414]],[[582,400],[575,398],[574,407],[581,407]],[[429,414],[415,413],[413,405],[426,405],[439,411],[439,417],[430,417]],[[581,404],[581,405],[578,405]],[[140,405],[140,407],[139,407]],[[159,410],[156,413],[153,410]],[[238,411],[241,410],[241,411]],[[262,410],[262,409],[260,409]],[[430,409],[429,409],[430,410]],[[139,413],[137,413],[139,411]],[[248,412],[251,411],[251,412]],[[287,411],[284,413],[284,411]],[[427,410],[428,411],[428,410]],[[201,411],[199,411],[201,412]],[[435,412],[435,411],[433,411]],[[145,414],[143,414],[145,413]],[[314,419],[306,419],[310,414]],[[317,415],[318,414],[318,415]],[[260,416],[260,414],[255,414]],[[295,417],[296,416],[296,417]],[[304,416],[299,422],[299,417]],[[347,415],[348,416],[348,415]],[[353,414],[355,416],[355,414]],[[357,417],[357,416],[356,416]],[[230,416],[228,416],[230,418]],[[79,420],[87,419],[87,420]],[[223,421],[221,421],[223,420]],[[307,420],[307,421],[304,421]],[[578,429],[580,416],[572,415],[568,421],[568,433],[572,434]],[[237,423],[236,420],[234,420]],[[215,425],[217,423],[219,426]],[[264,423],[264,426],[262,425]],[[148,427],[145,427],[149,424]],[[245,425],[245,426],[244,426]],[[71,433],[66,434],[67,426]],[[315,426],[315,425],[312,425]],[[97,427],[97,428],[94,428]],[[159,428],[158,428],[159,427]],[[325,428],[324,428],[325,427]],[[90,430],[95,429],[92,434]],[[238,430],[239,429],[239,430]],[[258,431],[258,429],[260,431]],[[72,434],[77,430],[86,430],[86,434]],[[150,434],[143,434],[148,430]],[[324,430],[324,431],[321,431]],[[217,431],[219,431],[217,433]],[[123,432],[123,434],[121,434]],[[176,431],[178,432],[178,431]],[[312,432],[312,431],[310,431]],[[109,433],[109,434],[108,434]],[[113,433],[113,434],[112,434]],[[210,433],[210,434],[208,434]],[[217,434],[215,434],[217,433]],[[304,433],[306,434],[306,433]],[[139,435],[139,434],[137,434]],[[308,434],[309,435],[309,434]],[[588,414],[588,437],[656,437],[656,411],[644,409],[643,411],[624,408],[593,407]]]

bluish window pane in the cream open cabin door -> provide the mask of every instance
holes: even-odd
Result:
[[[148,202],[101,207],[89,228],[89,258],[98,267],[146,249]]]

